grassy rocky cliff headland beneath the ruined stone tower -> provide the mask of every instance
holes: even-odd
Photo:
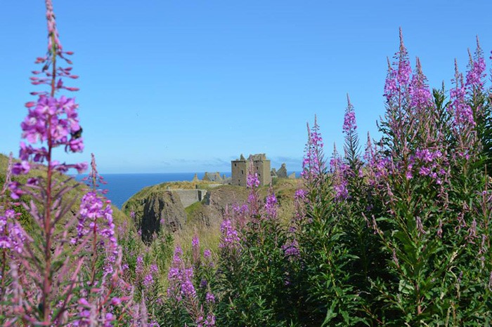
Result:
[[[280,218],[290,219],[294,192],[301,185],[301,180],[274,180],[272,187],[280,204]],[[176,192],[179,189],[202,189],[206,194],[201,201],[185,208],[179,192]],[[268,189],[268,186],[259,188],[262,198],[266,197]],[[205,227],[216,234],[225,208],[245,203],[249,193],[250,190],[245,187],[216,186],[212,182],[165,182],[145,187],[136,193],[123,204],[122,211],[135,216],[136,227],[141,228],[145,241],[150,241],[161,228],[166,232],[180,231],[186,234],[190,230]]]

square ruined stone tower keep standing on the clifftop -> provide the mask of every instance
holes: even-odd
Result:
[[[240,156],[239,159],[231,161],[231,184],[247,186],[247,174],[252,161],[252,173],[257,173],[260,186],[269,185],[271,182],[270,160],[266,159],[266,154],[250,154],[248,159]]]

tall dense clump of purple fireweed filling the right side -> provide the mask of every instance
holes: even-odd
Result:
[[[492,309],[492,195],[485,146],[490,90],[477,41],[449,100],[430,91],[400,48],[384,87],[382,139],[363,159],[351,103],[344,158],[306,178],[299,247],[307,325],[488,326]],[[312,159],[313,137],[306,147]],[[327,185],[330,185],[327,187]]]

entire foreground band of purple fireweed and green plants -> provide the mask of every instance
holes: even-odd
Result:
[[[0,193],[4,326],[491,324],[492,99],[478,41],[446,95],[429,89],[418,59],[410,67],[400,37],[382,138],[368,135],[361,149],[348,99],[343,152],[328,163],[315,119],[289,219],[250,173],[247,201],[224,210],[218,246],[165,232],[145,246],[124,223],[115,231],[95,159],[91,188],[77,199],[60,173],[84,165],[52,157],[83,143],[74,100],[55,97],[75,91],[57,77],[75,77],[57,66],[71,53],[46,4],[48,55],[34,72],[45,77],[33,81],[49,91],[26,105],[30,145],[9,163]]]

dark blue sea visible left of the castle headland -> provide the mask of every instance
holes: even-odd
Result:
[[[231,172],[221,173],[231,177]],[[121,208],[124,201],[131,198],[132,195],[152,185],[162,182],[191,181],[195,173],[155,173],[155,174],[101,174],[108,184],[101,185],[101,189],[108,189],[106,196],[111,202]],[[202,179],[205,173],[198,173],[198,179]],[[82,180],[84,175],[77,175],[77,180]]]

